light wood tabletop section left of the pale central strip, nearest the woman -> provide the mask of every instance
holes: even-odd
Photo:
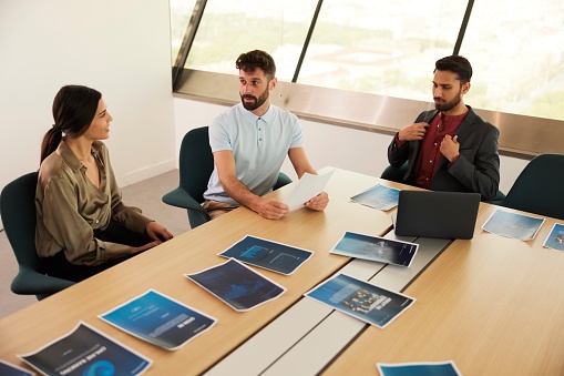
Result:
[[[328,167],[324,169],[327,170]],[[69,333],[83,321],[154,360],[148,375],[201,374],[213,366],[302,294],[334,274],[347,257],[328,251],[345,231],[383,235],[390,230],[390,212],[377,211],[350,201],[376,184],[400,187],[377,177],[336,170],[326,191],[330,203],[324,212],[300,209],[278,221],[264,220],[240,207],[191,230],[148,252],[83,281],[0,321],[0,358],[29,368],[17,354],[38,349]],[[283,200],[293,185],[273,192]],[[245,235],[314,251],[314,256],[290,276],[257,271],[287,288],[279,298],[249,312],[238,313],[187,280],[195,273],[221,264],[217,254]],[[168,352],[135,338],[98,315],[153,288],[217,318],[217,324],[182,348]]]

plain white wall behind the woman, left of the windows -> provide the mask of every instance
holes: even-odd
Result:
[[[176,166],[167,0],[0,1],[0,189],[39,167],[64,84],[102,92],[122,186]]]

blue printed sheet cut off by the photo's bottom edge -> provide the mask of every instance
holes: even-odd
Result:
[[[421,363],[377,363],[376,367],[382,376],[461,376],[454,362],[421,362]]]

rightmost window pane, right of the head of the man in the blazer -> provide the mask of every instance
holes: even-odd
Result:
[[[480,109],[564,120],[564,2],[476,1],[460,53]]]

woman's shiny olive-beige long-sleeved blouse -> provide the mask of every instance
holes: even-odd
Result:
[[[113,221],[143,234],[151,222],[140,209],[122,203],[107,148],[96,141],[92,155],[100,170],[100,187],[89,180],[86,167],[64,140],[41,163],[35,191],[35,246],[40,257],[64,250],[66,260],[73,264],[100,265],[129,255],[131,247],[102,242],[94,237],[94,230],[103,230]]]

